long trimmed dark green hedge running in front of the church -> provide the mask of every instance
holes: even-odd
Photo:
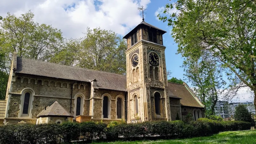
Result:
[[[251,124],[242,121],[215,121],[200,118],[197,121],[156,121],[138,124],[111,124],[95,122],[63,124],[13,124],[0,126],[0,143],[41,144],[71,141],[115,141],[141,139],[176,139],[207,136],[223,131],[249,130]]]

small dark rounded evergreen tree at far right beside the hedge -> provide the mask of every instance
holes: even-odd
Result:
[[[252,125],[255,125],[254,119],[252,118],[252,114],[244,105],[238,105],[235,108],[234,119],[236,121],[250,122]]]

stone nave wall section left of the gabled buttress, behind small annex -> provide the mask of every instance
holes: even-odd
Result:
[[[58,101],[60,105],[70,112],[71,88],[74,81],[60,80],[47,77],[35,77],[17,74],[13,77],[12,94],[9,101],[8,117],[18,117],[20,111],[20,94],[23,89],[29,88],[35,92],[32,102],[32,118],[36,116],[52,102]],[[74,83],[72,92],[71,114],[74,115],[74,97],[80,93],[85,99],[90,99],[90,83]],[[89,115],[89,100],[84,101],[84,115]]]

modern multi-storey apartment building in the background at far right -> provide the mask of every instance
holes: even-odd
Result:
[[[254,103],[252,101],[236,102],[236,103],[228,103],[228,101],[217,101],[215,106],[215,114],[217,116],[221,116],[222,118],[233,117],[235,114],[235,108],[239,104],[245,105],[249,112],[256,114]]]

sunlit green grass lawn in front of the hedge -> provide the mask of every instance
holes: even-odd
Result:
[[[116,141],[93,144],[256,144],[255,131],[220,132],[208,137],[176,140]]]

